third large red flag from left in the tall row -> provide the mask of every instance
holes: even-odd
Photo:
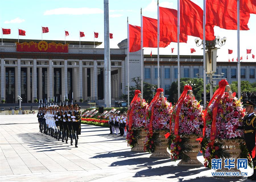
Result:
[[[159,40],[163,42],[177,42],[177,15],[176,9],[159,7]],[[187,43],[188,36],[180,34],[180,42]]]

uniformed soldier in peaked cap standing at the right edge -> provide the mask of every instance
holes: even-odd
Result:
[[[245,105],[245,111],[247,115],[243,118],[244,140],[246,147],[252,157],[252,150],[255,147],[255,132],[256,132],[256,114],[253,110],[256,105],[247,100]],[[252,158],[253,161],[253,175],[247,177],[256,181],[256,157]]]

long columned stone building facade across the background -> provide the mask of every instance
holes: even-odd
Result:
[[[68,53],[17,52],[14,42],[3,39],[0,46],[1,100],[6,103],[18,102],[21,96],[23,103],[35,99],[58,97],[64,101],[95,101],[104,104],[104,49],[97,48],[101,42],[66,41]],[[40,42],[40,40],[20,40],[20,42]],[[46,41],[58,42],[63,41]],[[119,100],[127,94],[127,40],[118,44],[119,49],[110,49],[111,61],[111,101]],[[130,80],[141,77],[140,51],[129,54]],[[181,78],[202,76],[202,56],[180,56]],[[167,90],[177,80],[177,55],[160,55],[160,86]],[[241,80],[256,82],[255,62],[241,62]],[[228,82],[237,81],[236,62],[217,62],[217,74],[224,73]],[[157,85],[157,57],[144,55],[144,81]],[[130,86],[133,83],[130,81]]]

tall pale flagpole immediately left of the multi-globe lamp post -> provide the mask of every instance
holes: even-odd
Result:
[[[206,3],[204,1],[204,14],[203,14],[203,74],[204,74],[204,108],[206,108],[206,71],[205,71],[205,67],[206,67],[206,63],[205,63],[205,9],[206,9]]]

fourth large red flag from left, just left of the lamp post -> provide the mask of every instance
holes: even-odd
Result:
[[[203,10],[190,0],[180,0],[180,32],[203,40]],[[205,39],[214,40],[214,25],[205,25]]]

